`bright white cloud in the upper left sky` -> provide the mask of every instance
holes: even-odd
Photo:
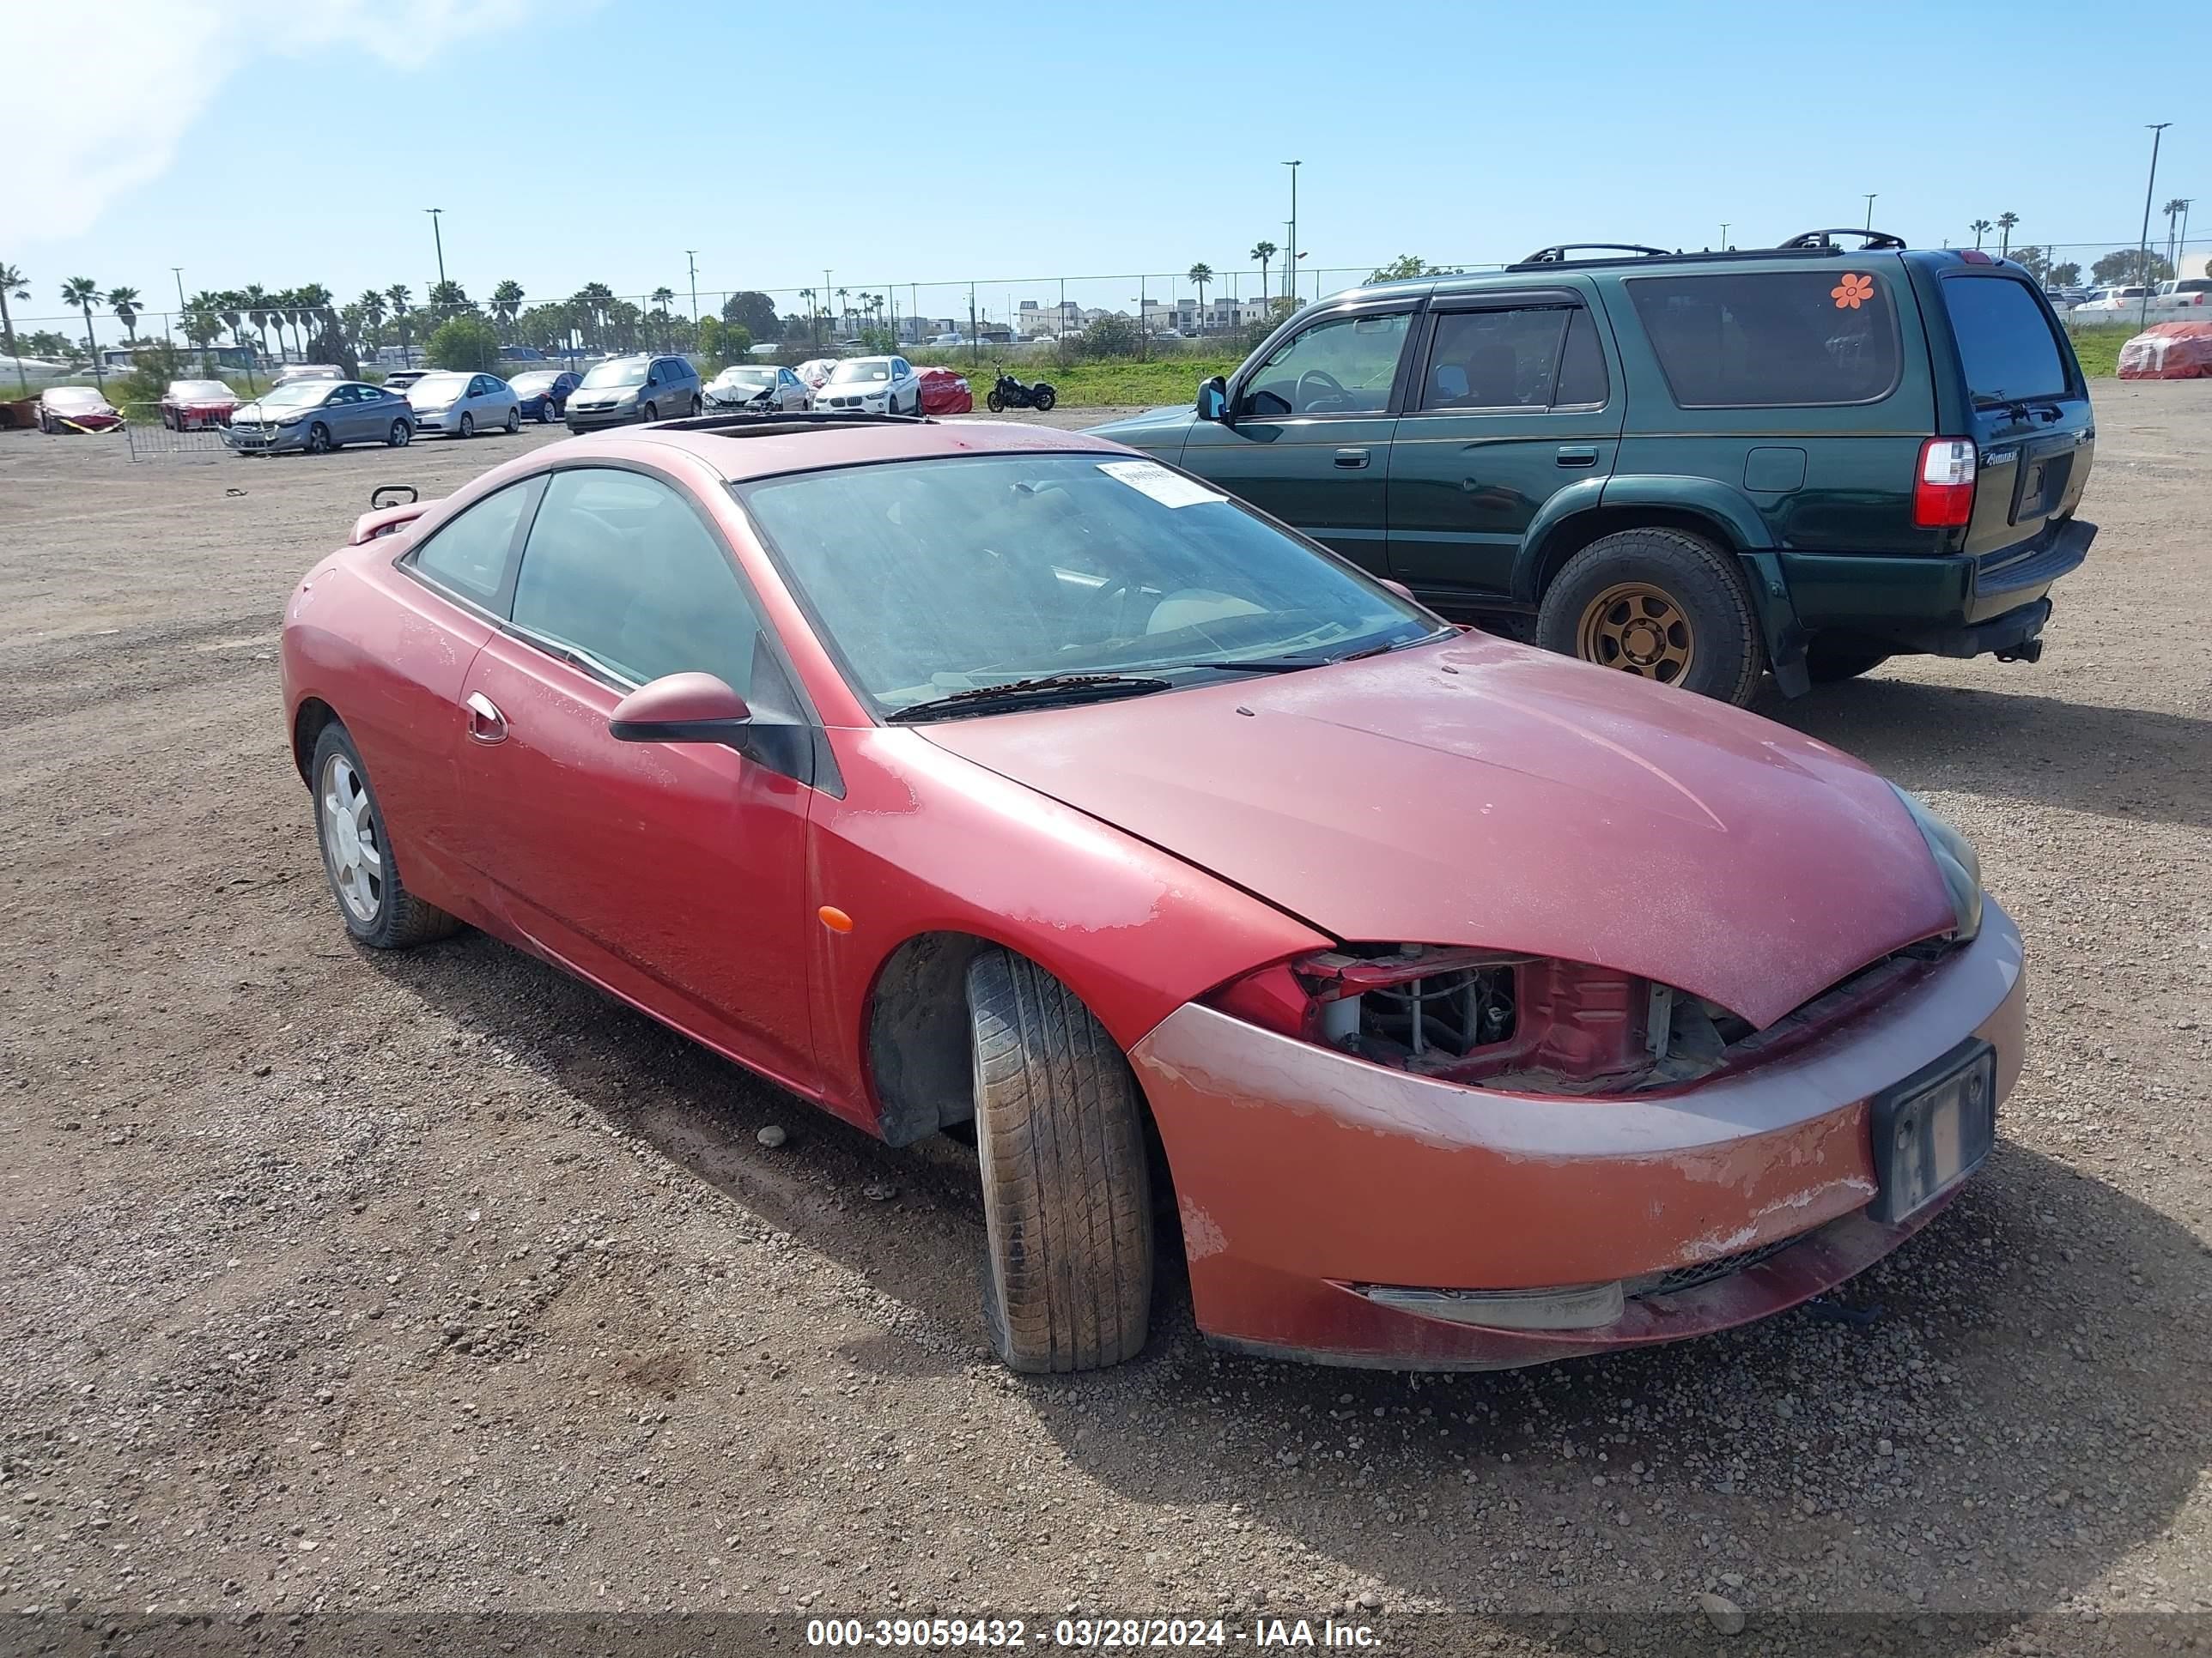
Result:
[[[159,179],[223,84],[268,57],[345,49],[420,69],[451,42],[511,29],[529,0],[35,0],[7,7],[9,241],[91,230]],[[91,73],[80,73],[88,69]]]

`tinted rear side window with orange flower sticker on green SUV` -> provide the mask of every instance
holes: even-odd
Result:
[[[1683,409],[1876,402],[1898,385],[1882,276],[1772,270],[1632,276],[1626,287]]]

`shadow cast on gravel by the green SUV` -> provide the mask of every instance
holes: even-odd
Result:
[[[1913,787],[2212,829],[2212,721],[1878,676],[1756,712]]]

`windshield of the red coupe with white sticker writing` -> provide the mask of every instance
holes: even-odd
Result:
[[[785,581],[891,714],[1040,674],[1217,679],[1438,623],[1206,484],[1117,455],[975,455],[737,486]]]

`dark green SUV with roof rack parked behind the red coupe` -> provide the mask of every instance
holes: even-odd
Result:
[[[1798,696],[1902,652],[2035,661],[2097,535],[2042,290],[1882,232],[1356,287],[1194,409],[1097,431],[1447,615],[1734,703],[1761,670]]]

